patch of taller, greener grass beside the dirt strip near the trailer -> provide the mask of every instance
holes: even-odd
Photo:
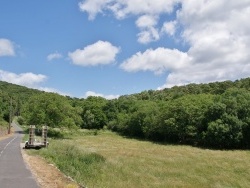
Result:
[[[84,152],[67,140],[54,140],[48,149],[40,150],[39,154],[81,185],[98,174],[105,162],[102,155]]]

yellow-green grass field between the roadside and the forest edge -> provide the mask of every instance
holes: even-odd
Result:
[[[93,134],[92,134],[93,133]],[[81,185],[97,188],[249,187],[250,151],[160,145],[82,131],[31,151]]]

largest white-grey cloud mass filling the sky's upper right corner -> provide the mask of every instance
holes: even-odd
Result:
[[[177,21],[192,66],[172,72],[163,87],[249,76],[250,1],[183,1]]]

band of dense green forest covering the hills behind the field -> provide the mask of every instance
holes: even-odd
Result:
[[[113,100],[72,98],[0,82],[0,104],[1,123],[18,116],[27,125],[109,129],[162,143],[250,148],[250,78],[148,90]]]

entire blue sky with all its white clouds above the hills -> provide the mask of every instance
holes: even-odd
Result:
[[[250,75],[250,0],[3,0],[0,80],[115,98]]]

